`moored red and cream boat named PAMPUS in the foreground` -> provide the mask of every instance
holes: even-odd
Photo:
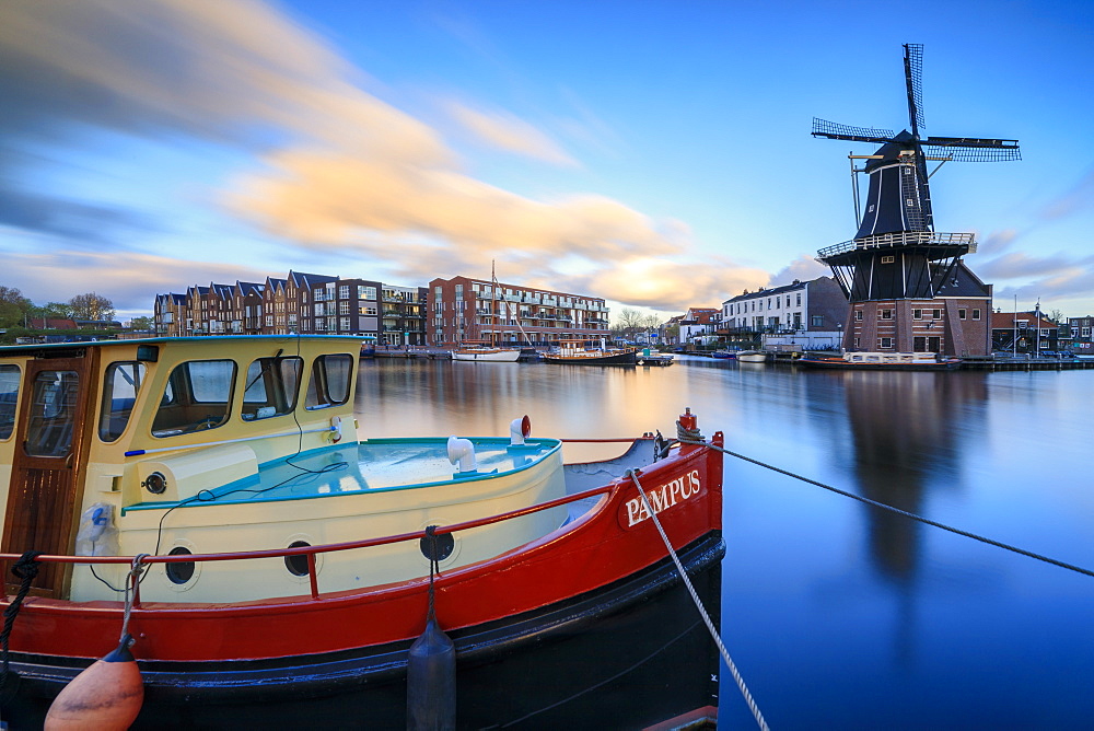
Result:
[[[527,417],[359,441],[359,350],[0,348],[10,728],[105,728],[104,707],[133,729],[717,716],[698,606],[718,622],[722,433],[686,409],[676,439],[577,464]]]

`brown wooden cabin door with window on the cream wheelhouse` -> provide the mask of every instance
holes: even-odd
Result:
[[[85,471],[84,427],[94,411],[93,349],[77,352],[26,363],[0,553],[71,552]],[[33,593],[63,595],[70,570],[66,564],[43,564]],[[9,592],[14,581],[11,573],[5,576]]]

